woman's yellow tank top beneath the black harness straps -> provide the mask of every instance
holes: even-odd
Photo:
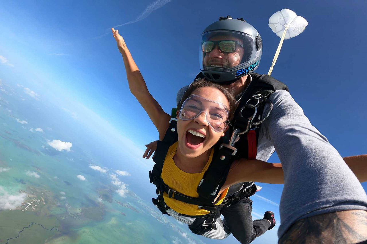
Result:
[[[208,162],[204,166],[201,173],[186,173],[180,170],[173,161],[173,157],[177,151],[177,145],[178,142],[173,144],[168,149],[166,158],[164,159],[161,178],[163,179],[164,183],[168,185],[172,190],[182,193],[186,196],[199,197],[196,189],[199,186],[200,181],[204,176],[204,173],[207,171],[211,163],[214,154],[214,148],[211,149]],[[223,202],[225,196],[227,195],[227,192],[228,188],[221,193],[221,196],[218,197],[215,205],[219,205]],[[163,199],[168,207],[172,208],[174,211],[180,214],[195,216],[205,215],[209,213],[209,211],[207,210],[199,209],[197,205],[180,202],[172,197],[170,198],[165,192],[163,193]]]

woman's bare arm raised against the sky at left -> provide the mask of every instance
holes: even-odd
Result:
[[[168,129],[171,116],[166,114],[159,103],[157,103],[153,96],[150,95],[144,78],[141,75],[138,66],[135,64],[134,59],[132,59],[130,51],[126,47],[124,38],[119,34],[118,30],[113,28],[112,33],[124,60],[126,77],[129,83],[130,92],[136,97],[148,114],[150,120],[156,126],[159,132],[159,138],[162,140],[166,130]]]

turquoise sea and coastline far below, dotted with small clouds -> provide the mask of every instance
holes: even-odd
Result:
[[[91,149],[85,128],[21,91],[1,83],[0,243],[202,243],[148,201],[141,181],[117,175],[117,163]],[[69,139],[70,151],[48,144]],[[118,164],[139,171],[128,157]]]

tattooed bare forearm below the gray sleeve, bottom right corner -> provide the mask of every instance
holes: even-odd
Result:
[[[301,219],[279,239],[279,244],[354,244],[365,240],[367,211],[348,210]]]

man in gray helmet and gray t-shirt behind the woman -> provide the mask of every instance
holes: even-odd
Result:
[[[208,26],[202,39],[203,77],[232,89],[238,99],[251,98],[244,93],[259,78],[250,73],[257,69],[262,53],[255,28],[243,19],[228,16]],[[180,89],[178,100],[185,90]],[[286,89],[276,90],[268,99],[273,109],[259,130],[256,158],[266,161],[276,150],[283,167],[279,243],[367,240],[367,196],[355,175]],[[261,118],[266,117],[269,107],[265,105]],[[241,186],[232,186],[231,192]],[[234,236],[243,237],[237,238],[242,243],[259,236],[256,228],[251,234],[241,234],[249,223],[234,221],[233,214],[240,209],[251,211],[246,200],[222,210]]]

